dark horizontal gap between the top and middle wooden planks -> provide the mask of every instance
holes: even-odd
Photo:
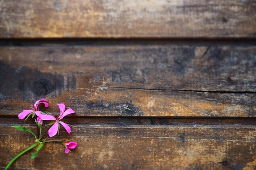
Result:
[[[0,38],[0,47],[88,45],[240,45],[254,46],[256,38]]]

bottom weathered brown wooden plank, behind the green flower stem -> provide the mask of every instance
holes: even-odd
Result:
[[[33,161],[27,154],[14,169],[161,169],[161,170],[254,170],[256,168],[255,126],[72,126],[61,139],[78,142],[65,155],[61,144],[47,144]],[[33,136],[0,124],[0,167],[23,148]]]

